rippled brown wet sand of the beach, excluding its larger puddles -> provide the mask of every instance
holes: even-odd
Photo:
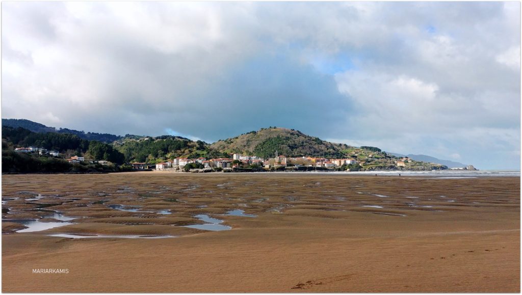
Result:
[[[28,174],[2,189],[3,292],[520,291],[519,178]],[[16,232],[42,210],[74,224]],[[186,227],[199,214],[232,229]]]

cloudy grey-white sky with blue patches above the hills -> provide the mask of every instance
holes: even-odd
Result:
[[[3,2],[2,117],[520,167],[520,2]]]

